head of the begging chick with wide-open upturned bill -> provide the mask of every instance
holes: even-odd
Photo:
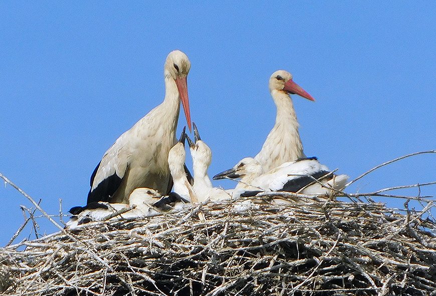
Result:
[[[197,126],[192,123],[194,127],[194,140],[186,136],[189,144],[189,150],[191,151],[192,164],[194,168],[195,175],[205,176],[207,174],[207,169],[212,162],[212,151],[206,143],[201,141],[200,134],[198,133]]]

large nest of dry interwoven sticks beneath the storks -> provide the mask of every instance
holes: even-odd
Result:
[[[0,292],[436,295],[434,224],[421,215],[257,197],[92,222],[0,249]]]

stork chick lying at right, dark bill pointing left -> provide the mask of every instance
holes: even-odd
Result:
[[[347,175],[335,175],[316,157],[285,162],[266,173],[260,163],[251,157],[244,158],[232,169],[213,176],[214,180],[241,178],[241,186],[253,193],[261,191],[288,191],[306,195],[329,195],[332,190],[342,190]],[[247,195],[247,194],[244,194]]]

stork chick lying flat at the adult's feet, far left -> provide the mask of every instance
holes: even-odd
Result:
[[[84,207],[71,208],[70,213],[73,216],[66,223],[66,228],[72,229],[81,224],[105,219],[150,217],[157,215],[159,211],[180,208],[186,202],[174,192],[161,196],[159,192],[150,188],[136,188],[129,196],[129,205],[99,201],[91,202]],[[129,209],[129,206],[134,208]]]

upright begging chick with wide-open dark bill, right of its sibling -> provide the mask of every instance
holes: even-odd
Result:
[[[210,200],[229,199],[233,196],[233,190],[224,190],[223,188],[213,187],[212,182],[207,174],[207,169],[212,162],[212,151],[209,146],[201,140],[197,126],[193,124],[195,143],[186,135],[189,144],[189,150],[192,157],[192,169],[194,174],[194,185],[192,189],[198,202]]]

